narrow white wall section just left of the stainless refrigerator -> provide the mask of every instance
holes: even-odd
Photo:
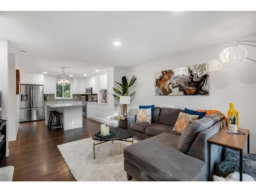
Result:
[[[15,141],[18,130],[18,109],[19,109],[19,95],[16,95],[16,62],[15,55],[8,54],[8,79],[9,79],[9,97],[8,97],[8,121],[9,121],[9,131],[8,137],[9,141]]]

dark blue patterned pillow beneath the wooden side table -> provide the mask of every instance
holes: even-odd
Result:
[[[225,148],[224,150],[224,161],[231,161],[239,166],[239,151],[231,150],[230,148]],[[256,180],[256,155],[243,153],[243,173]]]

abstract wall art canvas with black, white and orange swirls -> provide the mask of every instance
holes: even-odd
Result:
[[[155,73],[156,95],[209,95],[207,63]]]

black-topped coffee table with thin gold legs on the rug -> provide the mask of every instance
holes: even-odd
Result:
[[[93,136],[92,139],[96,140],[96,141],[100,141],[99,143],[93,143],[93,159],[95,159],[95,146],[102,144],[104,142],[108,142],[108,141],[125,141],[125,142],[131,142],[133,144],[133,139],[132,140],[127,140],[129,138],[132,138],[134,135],[132,132],[124,130],[120,127],[114,127],[114,128],[110,128],[110,131],[114,132],[116,135],[112,136],[112,137],[108,137],[108,138],[100,138],[97,136]]]

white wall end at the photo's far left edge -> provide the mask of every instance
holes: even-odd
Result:
[[[0,39],[0,90],[2,91],[3,119],[8,120],[8,41],[6,39]],[[7,121],[6,127],[8,135],[9,121]],[[8,156],[8,137],[6,151]]]

